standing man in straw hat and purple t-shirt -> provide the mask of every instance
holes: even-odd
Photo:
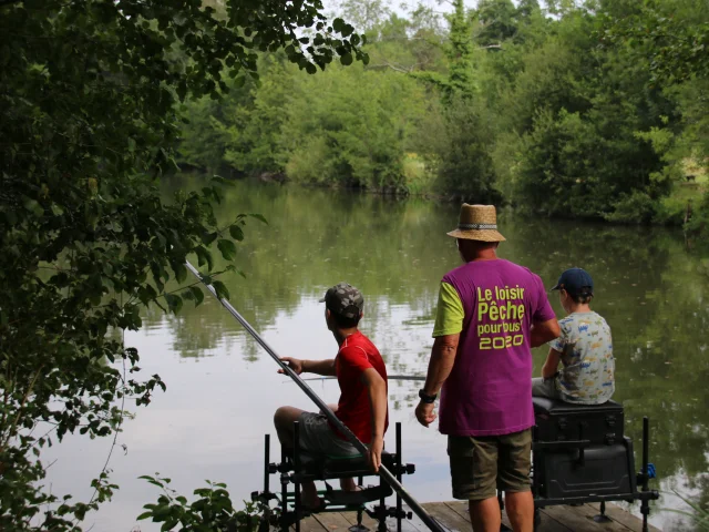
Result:
[[[433,348],[417,419],[428,427],[441,390],[453,497],[469,501],[475,532],[499,532],[496,490],[516,532],[532,532],[532,347],[559,336],[542,279],[497,258],[505,238],[493,205],[463,204],[456,238],[463,266],[441,282]]]

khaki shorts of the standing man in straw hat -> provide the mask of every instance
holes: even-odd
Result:
[[[482,501],[530,491],[532,429],[504,436],[449,436],[453,498]]]

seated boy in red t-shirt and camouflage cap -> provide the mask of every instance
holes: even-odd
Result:
[[[368,462],[373,471],[378,471],[389,424],[387,368],[379,350],[357,328],[364,298],[353,286],[339,283],[328,289],[320,303],[325,303],[325,321],[339,346],[337,356],[328,360],[289,357],[281,360],[298,375],[310,372],[337,377],[341,395],[332,410],[369,448]],[[274,416],[281,446],[294,447],[294,421],[300,422],[300,449],[335,457],[359,456],[354,446],[322,413],[306,412],[295,407],[280,407]],[[353,479],[341,479],[340,485],[347,491],[357,490]],[[314,482],[302,484],[302,503],[314,510],[320,508]]]

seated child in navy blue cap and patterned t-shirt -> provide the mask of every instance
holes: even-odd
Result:
[[[610,327],[589,303],[594,282],[588,272],[571,268],[553,290],[567,316],[558,325],[562,336],[549,342],[542,378],[532,379],[532,395],[580,405],[602,405],[615,391],[615,359]],[[558,364],[562,362],[561,370]]]

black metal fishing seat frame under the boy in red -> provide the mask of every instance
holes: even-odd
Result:
[[[401,521],[411,519],[412,512],[403,509],[401,495],[395,493],[395,507],[387,505],[387,498],[394,494],[391,487],[379,477],[379,485],[368,487],[361,491],[335,490],[328,484],[328,480],[357,478],[358,484],[362,485],[364,477],[377,477],[373,473],[364,457],[356,458],[327,457],[323,454],[309,453],[297,443],[300,441],[300,426],[294,423],[295,449],[289,450],[281,447],[280,463],[270,463],[270,436],[266,434],[264,449],[264,490],[251,493],[251,500],[268,505],[266,519],[281,532],[288,532],[295,525],[296,532],[300,532],[300,520],[314,513],[327,512],[357,512],[357,524],[353,524],[350,532],[368,532],[369,529],[362,524],[364,513],[379,522],[378,532],[387,532],[387,519],[397,520],[397,531],[401,532]],[[413,474],[415,466],[403,463],[401,451],[401,423],[395,424],[395,452],[382,452],[382,464],[387,467],[397,480],[401,482],[404,474]],[[270,491],[269,477],[279,473],[280,493]],[[318,491],[318,495],[323,501],[323,505],[318,510],[305,508],[300,500],[300,487],[304,482],[325,481],[326,489]],[[290,488],[292,487],[292,489]],[[275,507],[271,508],[271,501]],[[368,503],[377,502],[373,508],[368,508]]]

